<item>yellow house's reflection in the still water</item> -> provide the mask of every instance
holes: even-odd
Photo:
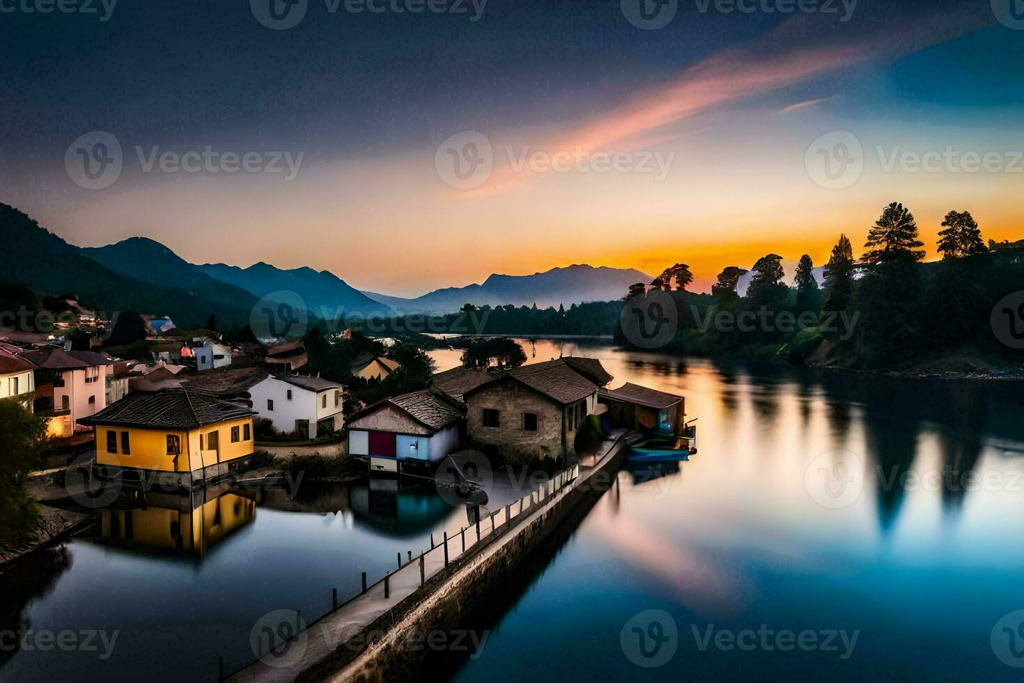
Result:
[[[150,493],[144,507],[99,511],[99,536],[115,545],[204,555],[256,518],[256,503],[226,487],[191,495]]]

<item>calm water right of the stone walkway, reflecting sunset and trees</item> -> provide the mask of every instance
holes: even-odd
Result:
[[[1024,656],[1020,617],[1000,625],[994,650],[990,641],[1000,617],[1024,609],[1020,384],[667,361],[581,345],[537,342],[536,358],[596,355],[612,386],[685,395],[699,453],[659,478],[620,473],[520,594],[478,615],[474,626],[492,633],[457,680],[1020,679],[994,651],[1024,665],[1013,656]],[[830,472],[852,482],[822,497]],[[937,481],[914,478],[933,472]],[[888,485],[893,474],[904,485]],[[648,609],[668,614],[641,615],[623,638]],[[634,626],[666,664],[632,663],[654,663]],[[745,649],[715,647],[716,634],[742,630],[755,632]],[[779,651],[761,646],[759,630],[811,631],[822,644],[828,632],[859,635],[841,658],[850,648],[840,635],[838,651]]]

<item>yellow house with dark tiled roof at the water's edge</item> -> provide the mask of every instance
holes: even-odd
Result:
[[[189,389],[129,394],[81,424],[96,431],[101,480],[191,489],[245,469],[253,411]]]

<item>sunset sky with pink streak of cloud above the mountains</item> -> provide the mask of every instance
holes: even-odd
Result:
[[[951,209],[1024,239],[1011,0],[62,1],[0,0],[0,202],[80,246],[412,296],[572,263],[707,289],[893,201],[933,257]]]

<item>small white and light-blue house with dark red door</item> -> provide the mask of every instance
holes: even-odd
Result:
[[[366,458],[371,471],[437,463],[458,447],[465,416],[465,405],[434,388],[385,398],[349,419],[348,455]]]

